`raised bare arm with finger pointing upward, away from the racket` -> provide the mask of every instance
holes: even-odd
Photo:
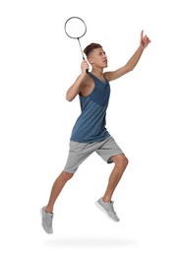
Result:
[[[104,73],[104,77],[106,77],[108,81],[112,81],[132,71],[136,67],[137,63],[139,62],[142,56],[142,53],[144,52],[144,49],[149,45],[149,43],[150,43],[149,37],[147,35],[144,36],[144,32],[142,31],[140,46],[138,47],[136,52],[133,54],[133,56],[129,59],[129,61],[126,63],[126,65],[117,69],[116,71]]]

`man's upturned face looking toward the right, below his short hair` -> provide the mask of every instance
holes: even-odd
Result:
[[[92,50],[89,56],[89,62],[92,66],[98,68],[107,67],[107,56],[102,48]]]

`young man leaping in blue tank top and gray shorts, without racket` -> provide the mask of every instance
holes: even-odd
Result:
[[[93,152],[96,152],[106,162],[114,162],[109,176],[108,185],[103,196],[96,201],[96,206],[111,220],[119,222],[111,201],[113,192],[121,179],[128,164],[122,150],[105,128],[105,114],[110,95],[109,82],[118,79],[132,71],[140,60],[150,39],[141,32],[140,46],[127,64],[116,71],[105,72],[107,56],[98,43],[90,43],[84,50],[89,63],[84,60],[81,64],[82,74],[69,88],[66,98],[72,101],[80,96],[82,113],[77,119],[70,139],[70,151],[64,170],[55,180],[48,204],[41,209],[42,226],[47,233],[52,233],[53,207],[57,197],[66,182],[71,179],[79,165]]]

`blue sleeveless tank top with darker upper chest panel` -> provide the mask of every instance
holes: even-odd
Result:
[[[78,117],[70,140],[81,143],[99,142],[110,134],[105,128],[105,116],[110,96],[110,85],[107,79],[101,82],[89,73],[94,81],[94,88],[89,96],[81,96],[81,114]]]

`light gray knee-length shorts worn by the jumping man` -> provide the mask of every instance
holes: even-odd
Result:
[[[111,136],[101,142],[80,143],[70,141],[69,156],[64,171],[74,173],[93,152],[96,152],[107,163],[112,162],[111,157],[124,154]]]

